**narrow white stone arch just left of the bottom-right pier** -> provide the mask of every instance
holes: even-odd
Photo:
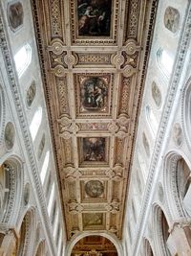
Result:
[[[154,230],[154,244],[156,249],[156,255],[169,256],[170,252],[167,247],[167,241],[169,238],[169,220],[162,207],[159,204],[153,205],[153,226]]]

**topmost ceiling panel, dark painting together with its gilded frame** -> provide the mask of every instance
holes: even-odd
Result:
[[[74,44],[117,42],[118,0],[71,1]],[[95,42],[94,42],[95,43]]]

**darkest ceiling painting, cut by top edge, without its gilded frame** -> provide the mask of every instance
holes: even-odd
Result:
[[[77,0],[78,35],[110,36],[112,0]]]

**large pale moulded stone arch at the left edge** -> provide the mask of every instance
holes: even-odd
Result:
[[[14,225],[18,219],[23,193],[23,166],[17,156],[11,156],[0,163],[5,172],[6,207],[0,217],[2,224]]]

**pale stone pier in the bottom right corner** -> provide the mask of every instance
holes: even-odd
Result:
[[[176,221],[170,229],[179,256],[191,256],[191,221]]]

